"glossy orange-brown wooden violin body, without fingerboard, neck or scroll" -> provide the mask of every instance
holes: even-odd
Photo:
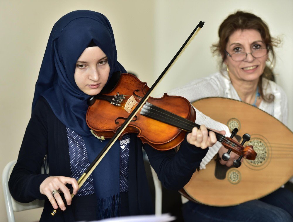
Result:
[[[147,83],[143,83],[132,74],[121,74],[115,88],[104,96],[124,95],[121,106],[110,104],[109,101],[96,99],[93,105],[88,107],[86,114],[86,122],[93,132],[104,138],[111,138],[123,124],[129,113],[134,109],[135,105],[149,90]],[[97,95],[98,96],[98,95]],[[127,98],[133,96],[136,100],[133,106],[125,110],[125,102]],[[131,103],[131,102],[130,102]],[[147,103],[151,103],[156,107],[172,112],[180,117],[195,122],[195,110],[189,101],[180,96],[168,96],[166,93],[162,98],[149,97]],[[168,118],[168,117],[166,117]],[[169,150],[178,146],[184,139],[186,131],[178,129],[161,121],[151,119],[140,115],[140,111],[128,124],[119,139],[126,133],[137,133],[142,143],[147,143],[158,150]]]

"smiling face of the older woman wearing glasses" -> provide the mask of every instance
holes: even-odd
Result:
[[[233,32],[226,45],[226,51],[231,55],[236,52],[251,53],[258,48],[266,48],[260,33],[254,29],[236,30]],[[227,56],[224,63],[229,68],[232,81],[258,81],[263,70],[268,53],[260,58],[254,58],[248,54],[243,61],[234,61]]]

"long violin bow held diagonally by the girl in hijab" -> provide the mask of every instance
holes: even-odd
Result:
[[[173,59],[170,61],[170,63],[167,65],[167,67],[163,70],[161,75],[158,77],[158,79],[154,82],[154,84],[151,86],[149,91],[144,95],[144,97],[140,100],[140,102],[137,104],[137,106],[134,108],[134,110],[130,113],[130,115],[127,117],[125,122],[119,127],[117,132],[114,134],[114,136],[110,139],[108,144],[101,150],[101,152],[98,154],[96,159],[90,164],[90,166],[84,171],[84,173],[81,175],[81,177],[77,180],[77,183],[79,185],[79,188],[84,184],[86,179],[91,175],[93,170],[98,166],[98,164],[101,162],[103,157],[106,155],[106,153],[110,150],[110,148],[113,146],[113,144],[116,142],[118,137],[121,135],[121,133],[124,131],[124,129],[128,126],[128,124],[131,122],[131,120],[134,118],[134,116],[137,114],[137,112],[142,108],[144,103],[147,101],[147,99],[150,97],[151,92],[155,89],[155,87],[161,82],[161,80],[166,76],[168,71],[171,69],[171,67],[176,63],[180,55],[184,52],[184,50],[187,48],[187,46],[190,44],[190,42],[194,39],[194,37],[197,35],[197,33],[201,30],[205,22],[200,21],[195,29],[191,32],[189,37],[186,39],[184,44],[181,46],[179,51],[176,53],[176,55],[173,57]],[[74,197],[73,194],[73,188],[70,189],[71,198]],[[65,199],[63,199],[64,203],[66,202]],[[57,213],[57,210],[53,210],[51,215],[54,216]]]

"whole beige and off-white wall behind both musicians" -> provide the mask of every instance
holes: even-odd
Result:
[[[286,7],[282,7],[286,5]],[[293,110],[293,2],[260,1],[1,1],[1,133],[0,172],[17,158],[25,127],[30,118],[34,85],[45,46],[54,23],[62,15],[88,9],[105,14],[116,39],[118,60],[126,70],[138,74],[149,86],[163,71],[195,25],[205,26],[173,66],[157,91],[166,91],[190,79],[204,77],[217,70],[209,46],[217,40],[220,22],[236,9],[260,15],[273,35],[283,35],[277,50],[277,82],[288,94]],[[289,127],[293,129],[292,111]],[[0,185],[1,186],[1,185]],[[1,186],[2,190],[2,186]],[[0,221],[6,221],[3,194],[0,191]],[[16,213],[16,221],[34,221],[40,210]]]

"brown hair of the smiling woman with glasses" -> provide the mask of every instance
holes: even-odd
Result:
[[[229,37],[236,30],[245,30],[245,29],[254,29],[260,32],[260,36],[262,37],[266,47],[271,53],[271,64],[275,63],[275,52],[273,47],[277,46],[280,43],[279,39],[273,38],[270,35],[270,31],[268,25],[258,16],[244,12],[237,11],[234,14],[229,15],[220,25],[218,35],[219,41],[216,44],[212,45],[212,50],[214,54],[220,55],[222,57],[222,61],[220,63],[221,67],[223,66],[224,61],[227,58],[224,50],[226,49],[227,42],[229,41]],[[262,98],[267,102],[272,102],[274,100],[273,95],[264,95],[262,89],[262,77],[266,79],[274,80],[273,72],[270,67],[266,66],[263,74],[260,76],[258,81],[259,92]]]

